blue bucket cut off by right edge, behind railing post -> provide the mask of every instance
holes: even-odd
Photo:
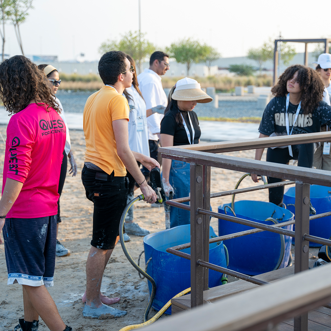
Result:
[[[310,202],[316,209],[316,214],[331,211],[331,187],[310,185]],[[295,214],[295,187],[290,187],[284,194],[283,202],[286,208]],[[293,230],[295,226],[293,226]],[[309,222],[309,234],[316,237],[329,239],[331,235],[331,216],[312,219]],[[292,239],[294,244],[294,238]],[[316,243],[309,243],[310,247],[321,247]]]

